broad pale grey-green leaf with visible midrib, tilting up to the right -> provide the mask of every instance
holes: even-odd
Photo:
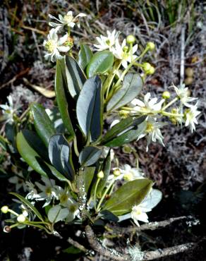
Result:
[[[138,96],[143,88],[143,80],[138,73],[128,73],[123,79],[123,85],[109,99],[107,111],[119,109]]]

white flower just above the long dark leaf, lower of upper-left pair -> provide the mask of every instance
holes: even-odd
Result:
[[[47,41],[44,40],[44,47],[47,49],[48,54],[45,54],[46,59],[56,61],[56,59],[63,59],[60,52],[67,52],[71,49],[71,44],[68,42],[68,33],[63,37],[58,37],[56,29],[52,28],[47,36]],[[68,44],[68,45],[67,45]]]

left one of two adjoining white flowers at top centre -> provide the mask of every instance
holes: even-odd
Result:
[[[112,32],[107,30],[107,36],[100,35],[99,37],[96,37],[99,44],[94,44],[94,46],[97,48],[97,51],[103,51],[106,49],[111,51],[114,44],[116,44],[116,41],[118,41],[119,33],[120,32],[116,32],[116,30],[113,30]]]

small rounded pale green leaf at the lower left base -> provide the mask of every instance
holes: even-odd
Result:
[[[56,223],[65,219],[69,214],[68,208],[62,208],[60,205],[51,207],[48,212],[48,219],[51,223]]]

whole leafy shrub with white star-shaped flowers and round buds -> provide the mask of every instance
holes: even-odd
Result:
[[[97,224],[103,221],[133,219],[148,222],[162,193],[152,188],[138,166],[119,166],[112,147],[147,139],[164,146],[161,128],[172,123],[188,126],[193,132],[198,123],[197,98],[190,97],[185,85],[174,86],[174,97],[163,92],[162,97],[142,95],[145,77],[154,67],[142,60],[155,49],[148,42],[141,54],[135,37],[128,35],[121,43],[120,32],[107,31],[97,37],[95,53],[80,44],[78,57],[73,57],[71,28],[80,25],[80,13],[73,17],[69,11],[59,18],[49,16],[52,29],[43,45],[46,59],[56,61],[55,92],[60,117],[54,121],[51,111],[42,105],[30,105],[30,119],[26,128],[16,136],[16,148],[29,171],[41,175],[40,182],[26,181],[25,198],[20,200],[20,213],[7,206],[1,212],[11,213],[11,226],[36,226],[58,235],[54,224],[58,221],[75,224]],[[141,75],[134,72],[138,67]],[[133,71],[131,72],[131,69]],[[6,121],[16,121],[11,97],[8,105],[1,105]],[[108,128],[108,119],[112,118]],[[121,186],[119,182],[121,181]],[[11,181],[18,182],[18,181]],[[42,208],[40,204],[42,202]]]

